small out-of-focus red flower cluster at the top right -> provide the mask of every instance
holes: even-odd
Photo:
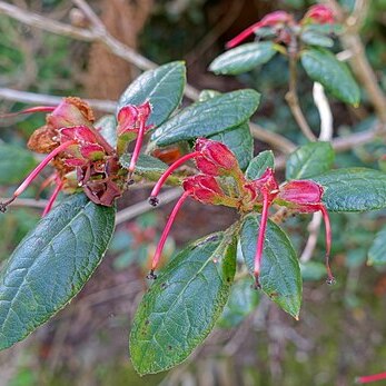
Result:
[[[250,37],[253,33],[257,33],[263,28],[270,28],[278,42],[288,44],[290,42],[290,29],[303,28],[308,24],[331,24],[334,23],[333,11],[323,4],[316,4],[308,9],[304,18],[296,22],[294,16],[286,11],[275,11],[266,14],[260,21],[248,27],[237,37],[229,40],[226,44],[227,48],[234,48],[240,44],[244,40]]]

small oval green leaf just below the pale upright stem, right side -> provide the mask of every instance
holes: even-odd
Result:
[[[334,166],[335,152],[329,142],[309,142],[296,149],[288,158],[287,179],[306,179],[321,175]]]

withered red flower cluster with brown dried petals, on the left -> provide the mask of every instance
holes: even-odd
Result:
[[[36,167],[6,202],[0,202],[0,211],[6,211],[18,196],[36,179],[46,166],[52,162],[56,171],[43,187],[55,184],[43,216],[49,212],[60,191],[75,192],[82,189],[96,204],[112,206],[129,182],[142,146],[146,131],[151,128],[147,120],[151,105],[127,105],[118,112],[117,148],[113,148],[95,127],[93,112],[79,98],[65,98],[57,107],[34,107],[18,113],[48,112],[46,125],[32,133],[28,147],[48,156]],[[12,116],[12,115],[8,115]],[[122,168],[119,157],[127,151],[129,142],[137,139],[129,168]],[[128,181],[129,179],[129,181]]]

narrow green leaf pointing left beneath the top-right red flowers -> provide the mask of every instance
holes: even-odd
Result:
[[[277,50],[271,41],[239,46],[217,57],[209,66],[215,73],[239,75],[269,61]]]

